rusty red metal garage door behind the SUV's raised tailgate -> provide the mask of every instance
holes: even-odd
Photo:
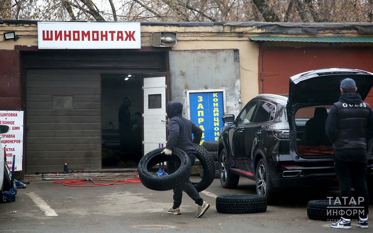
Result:
[[[339,67],[373,72],[373,50],[260,48],[259,54],[260,94],[286,94],[289,77],[308,70]],[[373,104],[372,91],[366,101]]]

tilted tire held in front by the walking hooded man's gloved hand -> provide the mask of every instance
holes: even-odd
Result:
[[[138,164],[138,176],[142,184],[152,190],[165,191],[174,189],[189,180],[191,173],[191,161],[189,156],[178,148],[172,149],[172,155],[161,153],[164,148],[158,148],[147,153]],[[179,163],[180,167],[166,176],[156,176],[149,170],[162,162]]]

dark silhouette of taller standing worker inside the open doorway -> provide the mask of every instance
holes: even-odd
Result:
[[[131,98],[125,96],[123,104],[119,107],[118,128],[120,137],[120,160],[123,162],[129,160],[132,153],[132,123],[131,114],[128,107],[131,106]]]

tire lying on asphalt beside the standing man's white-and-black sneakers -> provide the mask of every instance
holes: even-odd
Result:
[[[307,203],[307,216],[313,220],[336,220],[341,216],[339,214],[333,214],[333,208],[330,207],[340,207],[339,204],[334,204],[333,199],[330,200],[313,200]],[[328,210],[331,210],[328,213]],[[337,208],[337,210],[340,210]]]

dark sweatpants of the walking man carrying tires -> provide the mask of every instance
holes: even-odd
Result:
[[[195,161],[195,154],[188,154],[190,160],[191,160],[191,165],[193,166],[194,161]],[[178,169],[179,164],[175,164],[173,162],[168,162],[167,163],[167,170],[170,171],[170,173],[176,171]],[[185,183],[181,184],[180,186],[176,187],[173,189],[173,209],[175,210],[176,208],[179,208],[181,205],[181,199],[183,196],[183,191],[192,198],[196,204],[202,205],[203,204],[203,199],[201,198],[200,194],[198,193],[197,189],[194,188],[192,185],[192,182],[188,179]]]

